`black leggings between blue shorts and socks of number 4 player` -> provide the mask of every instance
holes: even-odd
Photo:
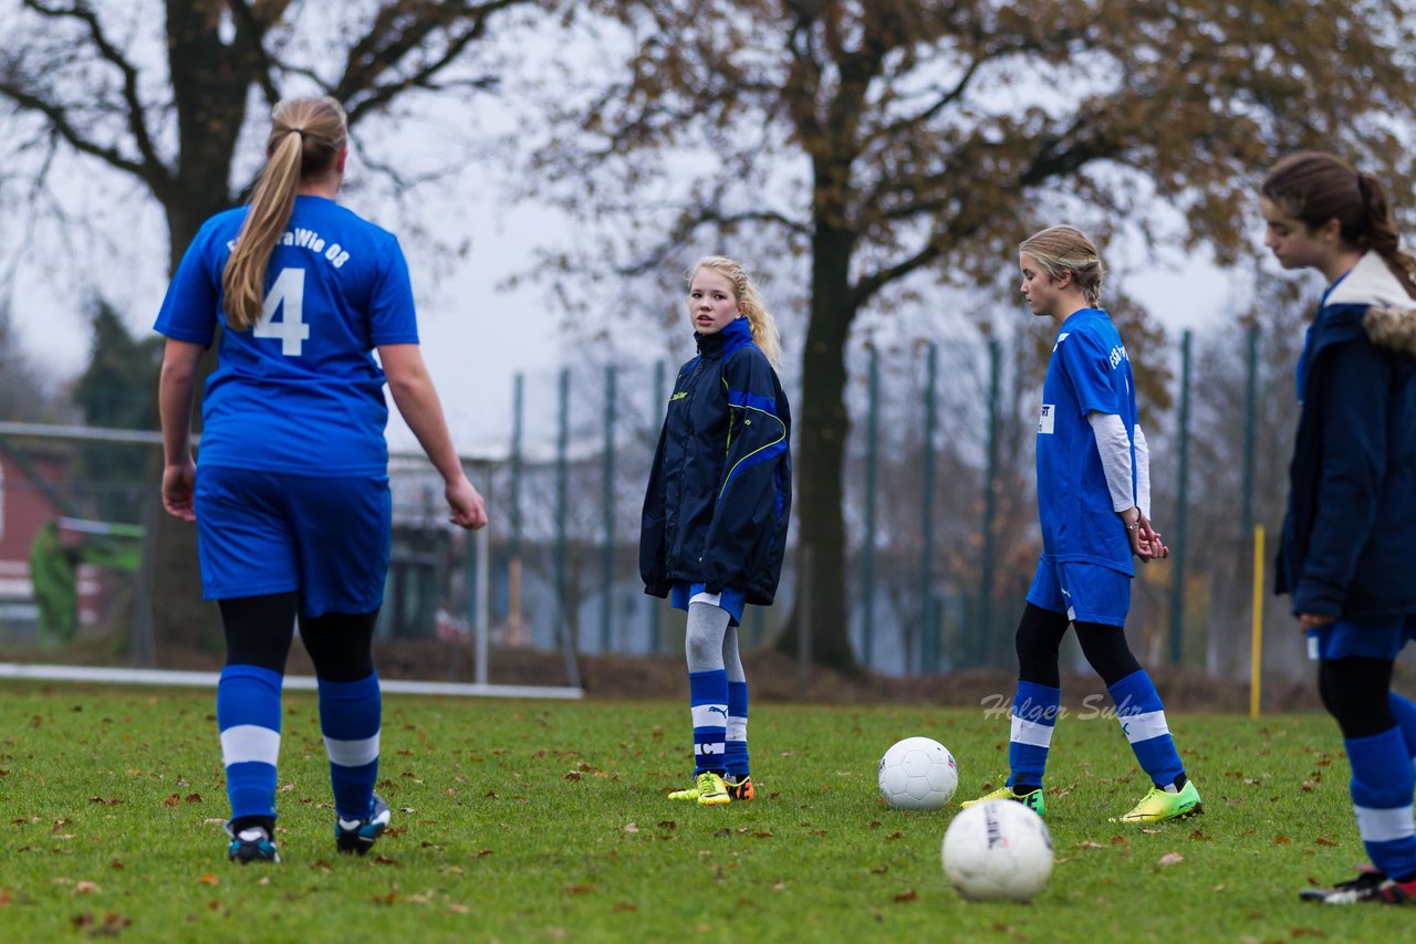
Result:
[[[259,665],[285,674],[290,654],[297,593],[269,593],[253,597],[219,600],[221,623],[227,633],[227,665]],[[300,638],[314,662],[314,674],[330,682],[357,682],[374,674],[372,613],[326,613],[300,616]]]

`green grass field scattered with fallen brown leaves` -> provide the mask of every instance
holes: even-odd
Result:
[[[688,783],[681,705],[389,696],[394,829],[358,859],[334,852],[316,702],[292,693],[283,862],[238,868],[212,692],[8,684],[0,705],[13,941],[1402,940],[1412,923],[1296,899],[1364,858],[1347,761],[1317,715],[1171,718],[1206,812],[1151,829],[1107,822],[1146,790],[1116,722],[1063,719],[1051,883],[1031,904],[969,904],[939,845],[957,800],[1007,769],[1007,718],[981,709],[753,706],[759,800],[700,808],[663,798]],[[906,735],[957,757],[946,810],[879,802],[877,760]]]

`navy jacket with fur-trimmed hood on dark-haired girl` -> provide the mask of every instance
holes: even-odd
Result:
[[[1277,592],[1294,614],[1416,614],[1416,301],[1376,253],[1318,310],[1298,395]]]

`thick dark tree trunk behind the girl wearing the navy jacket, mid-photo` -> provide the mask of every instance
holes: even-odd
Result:
[[[801,352],[797,409],[797,548],[811,548],[811,575],[797,572],[794,616],[777,648],[794,654],[804,593],[811,594],[811,660],[855,671],[845,594],[845,517],[841,483],[850,416],[845,410],[845,343],[851,299],[852,235],[818,222],[811,253],[811,324]],[[799,553],[799,560],[806,555]]]

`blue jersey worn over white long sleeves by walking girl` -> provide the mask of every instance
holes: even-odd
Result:
[[[1042,552],[1058,562],[1099,563],[1133,575],[1126,526],[1112,507],[1096,434],[1086,415],[1114,413],[1131,437],[1136,488],[1136,384],[1121,335],[1100,309],[1082,309],[1058,330],[1038,415],[1038,517]]]

